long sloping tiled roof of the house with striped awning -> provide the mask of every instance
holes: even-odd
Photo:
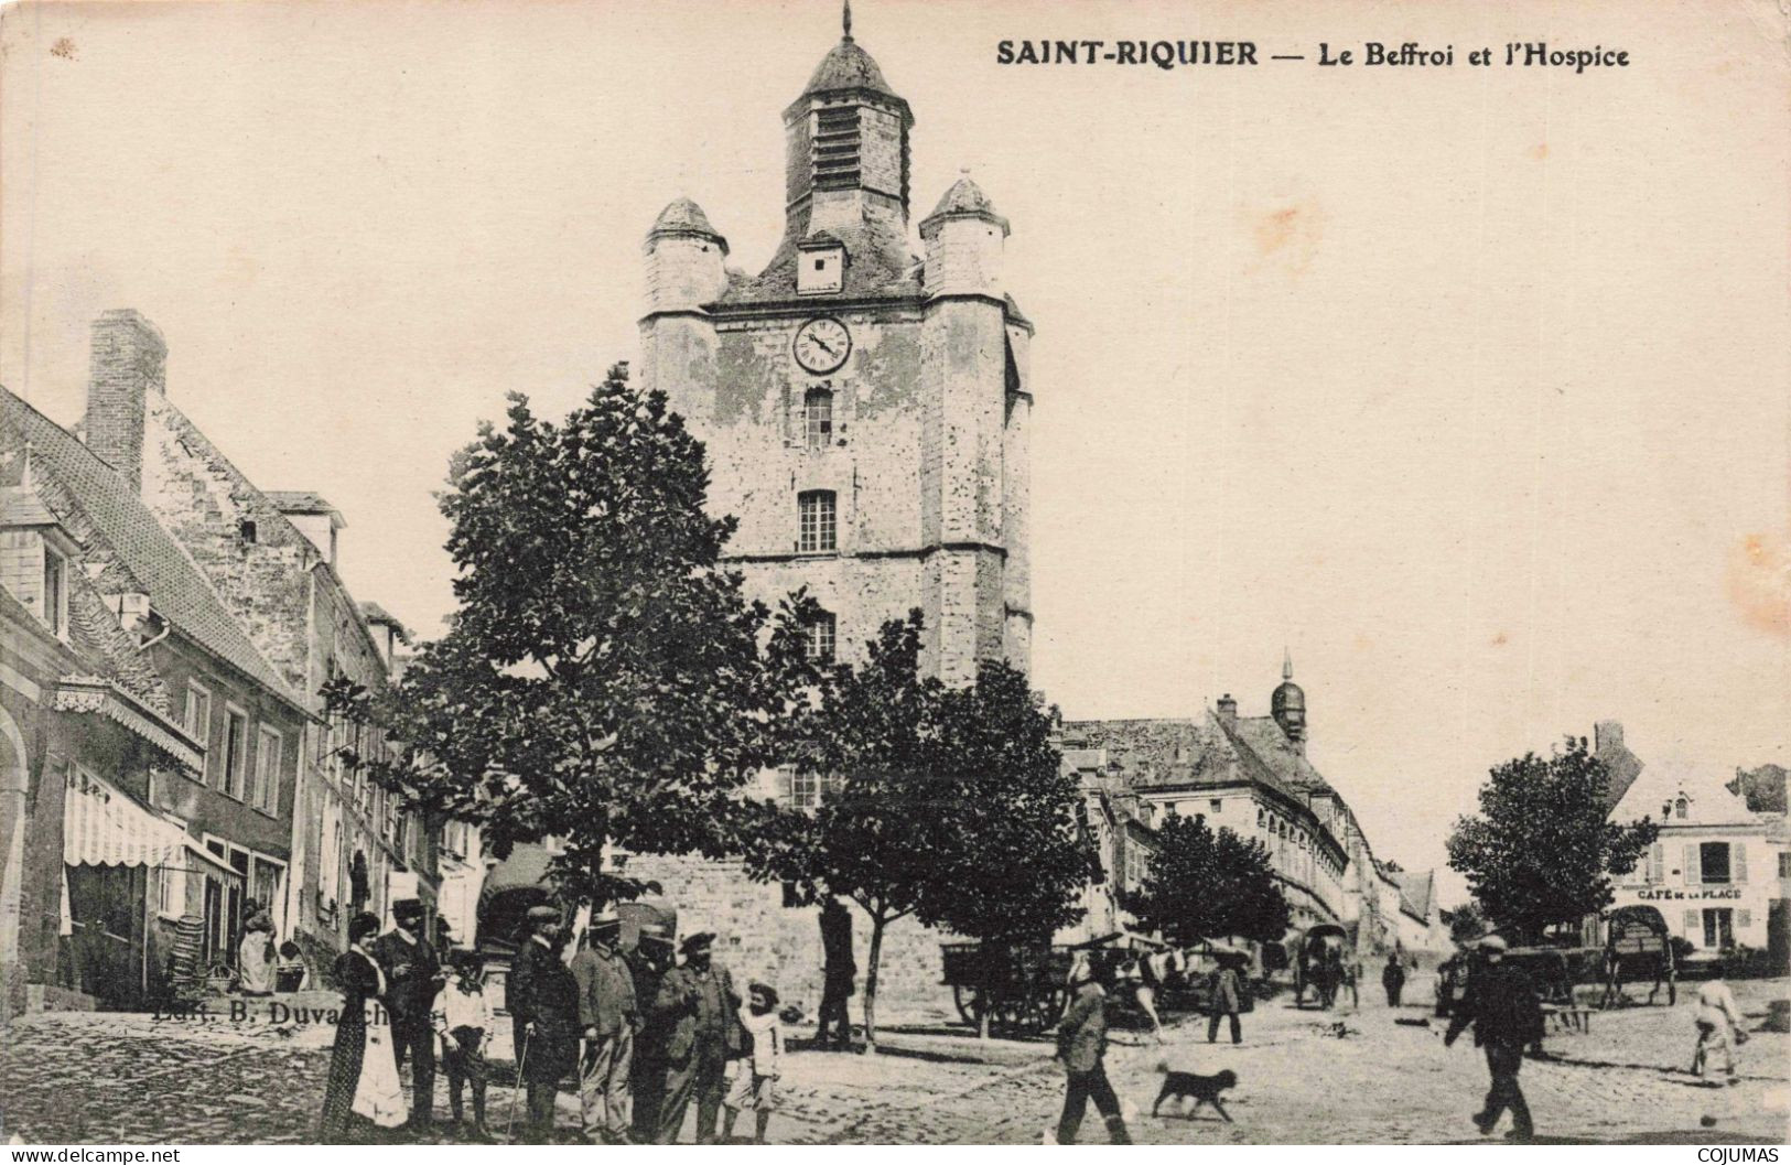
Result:
[[[0,441],[32,444],[32,471],[54,479],[73,496],[161,617],[269,692],[304,708],[124,477],[4,387]]]

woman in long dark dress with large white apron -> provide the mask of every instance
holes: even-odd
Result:
[[[349,1140],[347,1131],[355,1113],[383,1126],[396,1126],[405,1118],[398,1092],[398,1068],[385,1056],[383,1040],[373,1045],[376,1054],[371,1061],[367,1059],[369,1027],[380,1032],[385,1020],[378,1004],[380,997],[385,995],[385,971],[367,950],[378,932],[378,916],[362,912],[351,918],[347,950],[337,955],[333,968],[337,986],[342,989],[342,1014],[337,1020],[335,1045],[330,1050],[324,1113],[317,1131],[317,1140],[326,1145],[340,1145]],[[364,1075],[374,1079],[364,1081]]]

